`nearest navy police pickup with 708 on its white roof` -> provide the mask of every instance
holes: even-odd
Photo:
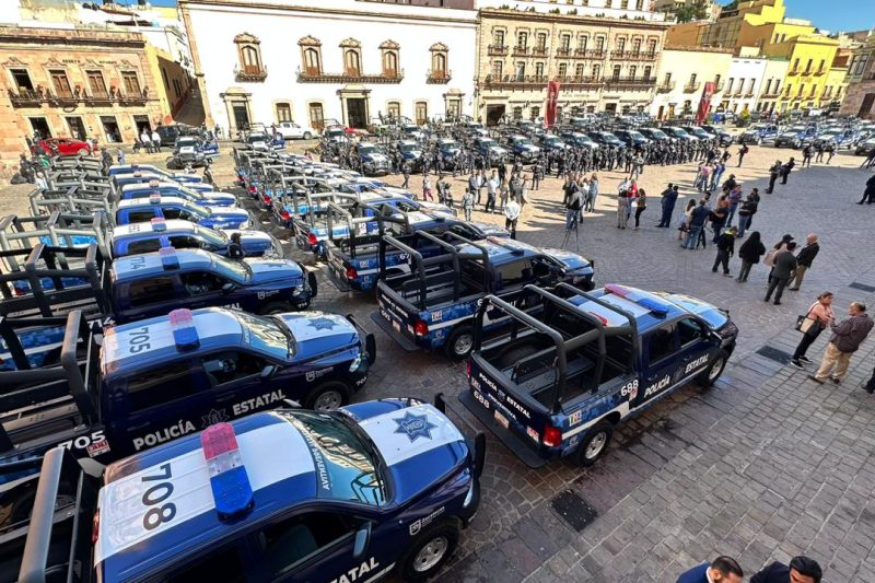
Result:
[[[466,439],[444,411],[439,396],[261,412],[112,464],[101,480],[52,450],[30,530],[0,565],[21,583],[425,581],[480,497],[483,435]]]

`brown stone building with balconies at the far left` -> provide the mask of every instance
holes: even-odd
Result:
[[[0,159],[25,137],[132,142],[162,120],[141,34],[83,27],[0,26]]]

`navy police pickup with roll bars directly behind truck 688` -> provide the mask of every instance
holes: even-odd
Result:
[[[417,232],[412,245],[383,236],[378,311],[371,317],[407,350],[443,347],[450,358],[466,357],[472,346],[474,316],[489,294],[517,291],[533,282],[593,287],[593,264],[580,255],[498,237],[471,242],[452,232],[444,236],[446,241]],[[423,256],[417,250],[420,237],[443,253]],[[385,255],[390,247],[407,254],[408,269],[388,273]]]

